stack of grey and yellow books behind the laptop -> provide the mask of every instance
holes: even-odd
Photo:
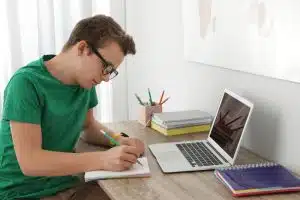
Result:
[[[151,128],[170,136],[187,133],[208,132],[212,116],[200,110],[154,113]]]

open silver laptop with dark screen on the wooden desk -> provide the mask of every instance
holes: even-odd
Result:
[[[225,89],[206,140],[151,144],[149,149],[165,173],[231,166],[252,110],[251,102]]]

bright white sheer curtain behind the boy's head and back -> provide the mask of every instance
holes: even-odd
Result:
[[[12,74],[43,54],[57,54],[82,18],[110,15],[111,0],[0,1],[0,114],[3,91]],[[112,121],[112,84],[97,86],[95,116]]]

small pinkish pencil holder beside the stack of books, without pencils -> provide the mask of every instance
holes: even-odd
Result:
[[[154,106],[140,106],[139,108],[139,118],[138,121],[144,126],[151,125],[151,118],[153,113],[161,113],[162,105],[156,104]]]

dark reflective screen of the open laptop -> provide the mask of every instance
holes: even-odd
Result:
[[[231,157],[239,144],[250,107],[224,93],[210,137]]]

